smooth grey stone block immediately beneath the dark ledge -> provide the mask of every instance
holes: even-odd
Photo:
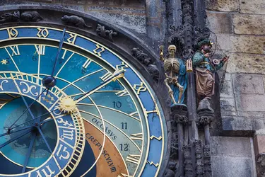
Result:
[[[252,157],[250,139],[249,137],[211,137],[211,154]]]

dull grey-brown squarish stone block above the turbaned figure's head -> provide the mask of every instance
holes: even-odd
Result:
[[[208,12],[210,28],[214,33],[232,33],[232,16],[230,13]]]

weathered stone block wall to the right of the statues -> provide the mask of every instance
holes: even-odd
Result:
[[[265,170],[260,170],[264,169],[265,164],[265,1],[207,0],[207,9],[209,27],[216,33],[220,45],[217,52],[220,53],[221,48],[230,57],[220,93],[223,133],[254,137],[254,145],[246,143],[241,137],[213,137],[213,176],[218,176],[220,171],[224,176],[237,176],[231,171],[242,176],[256,176],[249,167],[232,165],[243,163],[252,166],[253,161],[245,160],[251,155],[256,158],[257,176],[265,176]],[[215,38],[215,35],[211,36]],[[230,143],[220,143],[218,146],[225,146],[230,153],[233,149],[240,152],[241,146],[253,147],[255,154],[244,152],[240,155],[240,161],[228,156],[216,156],[216,139],[222,142],[231,138]],[[232,168],[221,165],[227,163]],[[230,171],[225,171],[225,168]]]

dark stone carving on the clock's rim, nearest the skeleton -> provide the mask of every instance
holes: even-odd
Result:
[[[155,81],[158,81],[159,78],[159,69],[155,64],[155,61],[148,57],[143,50],[140,50],[138,47],[131,50],[131,55],[136,57],[141,63],[145,64],[149,74],[153,77]]]

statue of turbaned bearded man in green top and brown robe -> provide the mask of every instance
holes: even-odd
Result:
[[[199,50],[196,51],[192,62],[196,72],[196,91],[200,101],[198,112],[200,110],[213,112],[211,96],[214,94],[214,72],[223,67],[228,58],[211,59],[212,43],[208,39],[201,40],[197,46]]]

